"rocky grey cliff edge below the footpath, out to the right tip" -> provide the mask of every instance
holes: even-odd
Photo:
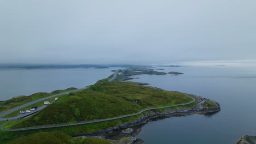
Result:
[[[162,112],[151,111],[149,113],[144,113],[141,117],[139,117],[138,119],[136,119],[134,121],[119,124],[119,125],[116,125],[115,127],[111,127],[111,128],[105,129],[105,130],[94,131],[92,133],[85,134],[85,135],[109,133],[110,131],[113,131],[113,130],[129,128],[129,127],[132,127],[135,125],[146,123],[149,119],[152,119],[152,118],[170,117],[170,116],[175,116],[175,115],[192,115],[193,113],[207,113],[207,112],[220,111],[220,106],[216,101],[205,99],[205,98],[202,98],[202,97],[199,97],[196,95],[191,95],[191,96],[194,97],[198,103],[194,107],[165,109]]]

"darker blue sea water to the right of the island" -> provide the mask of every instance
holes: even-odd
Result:
[[[215,100],[221,111],[151,121],[138,135],[145,143],[236,143],[256,135],[256,69],[230,67],[165,68],[184,75],[140,75],[132,81],[150,83]]]

